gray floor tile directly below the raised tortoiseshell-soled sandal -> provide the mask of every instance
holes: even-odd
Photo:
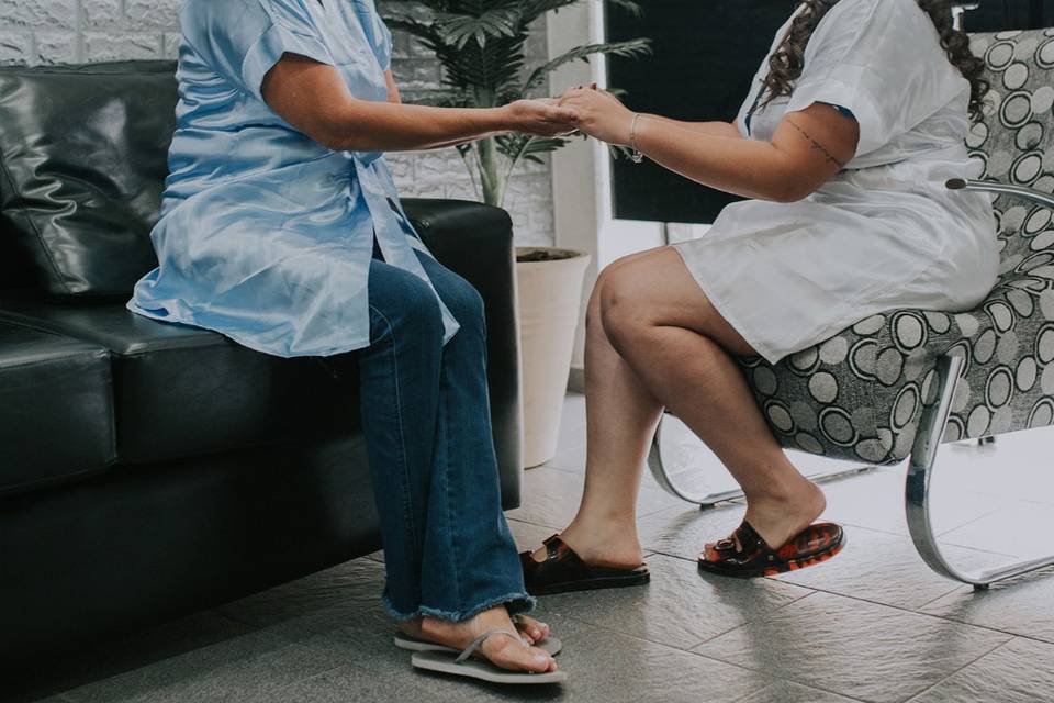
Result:
[[[648,558],[651,583],[545,596],[546,611],[672,647],[689,649],[764,617],[811,591],[773,580],[705,578],[693,561]]]

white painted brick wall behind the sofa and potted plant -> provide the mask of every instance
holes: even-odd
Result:
[[[379,0],[400,2],[401,0]],[[0,63],[56,64],[175,58],[180,0],[0,0]],[[545,30],[531,36],[528,54],[546,54]],[[439,86],[435,58],[412,37],[395,36],[395,76],[413,99]],[[472,181],[452,149],[389,158],[403,194],[476,199]],[[549,163],[514,177],[506,208],[520,245],[553,242]]]

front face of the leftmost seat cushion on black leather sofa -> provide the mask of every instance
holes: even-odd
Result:
[[[114,460],[110,355],[0,315],[0,494]]]

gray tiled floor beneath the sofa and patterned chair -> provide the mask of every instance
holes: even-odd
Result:
[[[509,513],[522,547],[573,515],[584,468],[584,402],[569,397],[560,450],[526,477]],[[943,448],[938,532],[964,563],[1050,549],[1054,429],[994,448]],[[700,470],[720,467],[700,456]],[[797,457],[805,470],[822,468]],[[902,467],[827,483],[828,516],[849,546],[822,566],[777,579],[700,577],[695,556],[742,505],[699,511],[650,479],[640,532],[648,587],[542,600],[563,638],[562,688],[501,689],[411,671],[391,644],[378,555],[101,645],[0,700],[66,703],[348,701],[719,701],[846,703],[1054,702],[1054,570],[972,589],[915,554],[901,504]],[[11,687],[9,687],[10,689]]]

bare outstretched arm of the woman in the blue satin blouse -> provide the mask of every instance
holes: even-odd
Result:
[[[573,109],[541,101],[479,110],[405,105],[396,102],[392,80],[388,102],[358,100],[335,68],[296,54],[271,68],[261,92],[293,127],[329,148],[352,152],[433,148],[496,131],[557,134],[572,129],[575,116]]]

